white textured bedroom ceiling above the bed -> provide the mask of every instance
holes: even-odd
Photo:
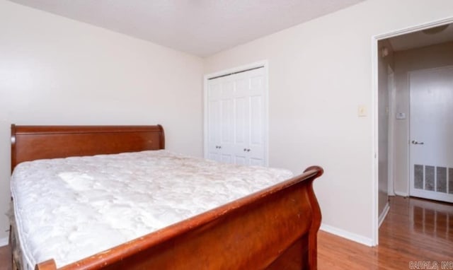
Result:
[[[206,57],[364,0],[10,0]]]

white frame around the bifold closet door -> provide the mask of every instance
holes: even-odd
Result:
[[[247,71],[248,69],[256,69],[263,66],[264,69],[264,165],[269,165],[269,61],[267,59],[262,61],[253,62],[251,64],[244,64],[243,66],[236,66],[231,69],[224,69],[203,76],[203,157],[207,158],[207,90],[210,78],[225,76],[228,74],[234,74],[241,71]]]

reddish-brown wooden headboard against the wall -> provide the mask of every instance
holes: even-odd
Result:
[[[156,126],[11,125],[11,172],[23,161],[42,158],[137,152],[165,148]]]

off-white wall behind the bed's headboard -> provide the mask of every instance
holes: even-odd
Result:
[[[202,156],[202,59],[4,0],[0,33],[0,242],[12,123],[160,123]]]

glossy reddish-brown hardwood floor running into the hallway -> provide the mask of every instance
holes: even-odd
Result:
[[[391,197],[378,247],[319,232],[320,270],[411,269],[411,262],[437,264],[432,269],[442,269],[442,262],[449,262],[444,269],[453,269],[453,204]],[[11,270],[9,247],[0,247],[0,270]]]

